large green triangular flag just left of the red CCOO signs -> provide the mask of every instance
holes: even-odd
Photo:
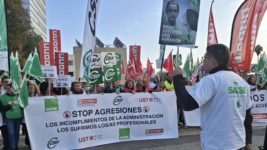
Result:
[[[40,82],[45,81],[36,48],[34,50],[32,62],[29,66],[28,71],[29,71],[29,75],[31,77],[34,77],[35,79],[37,79]]]

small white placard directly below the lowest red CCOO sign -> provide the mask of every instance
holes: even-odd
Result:
[[[53,79],[54,87],[71,87],[71,75],[58,75]]]

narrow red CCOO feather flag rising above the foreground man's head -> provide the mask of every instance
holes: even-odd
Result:
[[[214,1],[212,1],[212,3],[213,2]],[[211,9],[212,9],[212,3],[211,3]],[[208,45],[207,46],[212,45],[212,44],[218,44],[218,40],[217,40],[215,25],[213,21],[213,14],[211,10],[209,13]]]

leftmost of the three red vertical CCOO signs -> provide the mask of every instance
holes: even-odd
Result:
[[[40,64],[54,66],[54,52],[50,49],[50,43],[39,42],[40,44]]]

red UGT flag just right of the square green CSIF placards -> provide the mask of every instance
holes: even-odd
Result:
[[[129,61],[128,61],[127,69],[126,69],[126,75],[125,75],[126,82],[136,77],[135,65],[136,65],[136,61],[134,58],[134,54],[133,54],[133,51],[130,50]]]

